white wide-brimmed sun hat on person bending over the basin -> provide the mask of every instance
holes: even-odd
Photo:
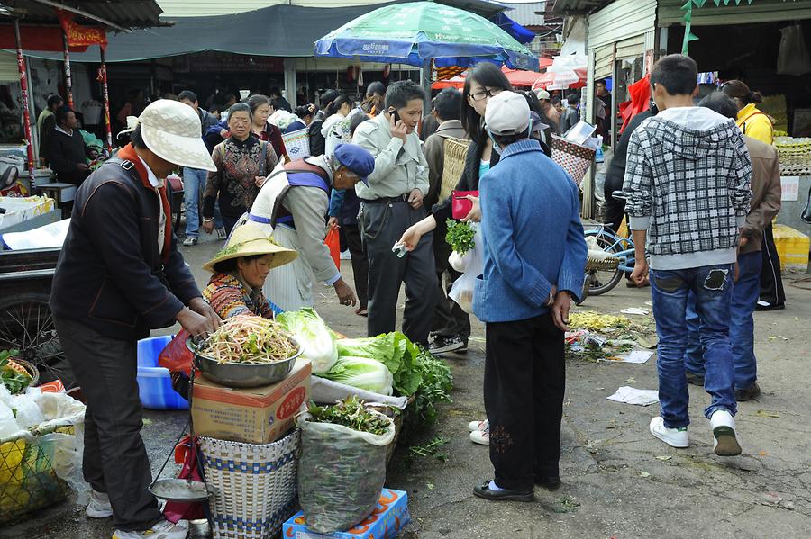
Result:
[[[187,104],[159,99],[141,112],[138,123],[146,147],[161,159],[178,166],[217,170],[201,136],[200,117]]]

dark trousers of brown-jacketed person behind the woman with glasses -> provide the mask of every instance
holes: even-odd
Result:
[[[442,337],[458,335],[467,344],[470,337],[470,316],[456,301],[448,297],[448,292],[451,292],[450,285],[459,279],[461,274],[448,263],[448,256],[451,256],[452,249],[445,241],[445,231],[444,227],[442,230],[437,227],[433,233],[433,261],[436,265],[437,295],[431,333]],[[447,289],[442,283],[442,276],[445,272],[451,276]]]

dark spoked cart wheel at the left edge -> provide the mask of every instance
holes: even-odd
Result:
[[[0,301],[0,349],[16,349],[36,365],[41,382],[61,379],[68,388],[72,373],[59,343],[48,295],[21,293]]]

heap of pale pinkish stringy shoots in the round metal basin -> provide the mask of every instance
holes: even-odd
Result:
[[[283,361],[298,352],[290,334],[278,322],[253,315],[226,319],[199,352],[217,363],[260,364]]]

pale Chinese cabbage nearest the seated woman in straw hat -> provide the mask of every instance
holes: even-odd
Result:
[[[276,319],[296,337],[302,357],[313,363],[313,373],[326,373],[338,361],[335,337],[318,313],[310,308],[283,312]]]

